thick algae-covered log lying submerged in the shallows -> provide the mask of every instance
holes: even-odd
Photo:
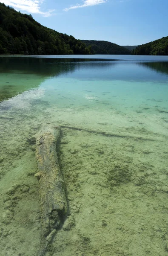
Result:
[[[60,127],[57,126],[44,128],[36,137],[38,171],[35,176],[39,178],[41,220],[45,236],[57,229],[67,212],[64,182],[56,151],[59,136]]]

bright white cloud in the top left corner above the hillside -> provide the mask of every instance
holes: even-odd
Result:
[[[39,13],[44,17],[53,15],[54,10],[48,10],[47,12],[41,12],[40,6],[43,0],[2,0],[6,6],[12,6],[17,10],[26,11],[30,13]]]

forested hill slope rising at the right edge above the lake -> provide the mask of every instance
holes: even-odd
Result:
[[[168,55],[168,36],[148,44],[142,44],[132,51],[134,55]]]

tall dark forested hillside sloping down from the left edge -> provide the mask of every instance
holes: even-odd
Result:
[[[21,14],[0,3],[0,54],[55,55],[92,54],[72,35],[40,25],[31,15]]]

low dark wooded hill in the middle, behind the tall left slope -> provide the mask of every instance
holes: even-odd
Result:
[[[131,54],[131,51],[108,41],[81,40],[86,46],[91,46],[94,54]]]

